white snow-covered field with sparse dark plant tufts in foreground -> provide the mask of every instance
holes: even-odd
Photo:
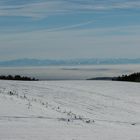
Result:
[[[140,84],[0,81],[0,140],[140,140]]]

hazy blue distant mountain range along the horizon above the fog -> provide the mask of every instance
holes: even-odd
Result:
[[[51,60],[51,59],[16,59],[10,61],[0,61],[0,66],[58,66],[58,65],[107,65],[107,64],[140,64],[140,58],[114,58],[114,59],[69,59],[69,60]]]

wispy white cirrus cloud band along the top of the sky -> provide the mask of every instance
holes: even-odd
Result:
[[[47,17],[53,14],[140,8],[138,0],[0,0],[0,16]]]

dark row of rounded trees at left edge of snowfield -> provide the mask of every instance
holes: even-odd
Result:
[[[12,76],[12,75],[8,75],[8,76],[0,75],[0,79],[1,80],[37,81],[37,79],[35,79],[35,78],[30,78],[30,77],[27,77],[27,76],[20,76],[20,75],[15,75],[15,76]]]

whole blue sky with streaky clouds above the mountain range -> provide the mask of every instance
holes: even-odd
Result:
[[[139,57],[140,0],[0,0],[0,60]]]

